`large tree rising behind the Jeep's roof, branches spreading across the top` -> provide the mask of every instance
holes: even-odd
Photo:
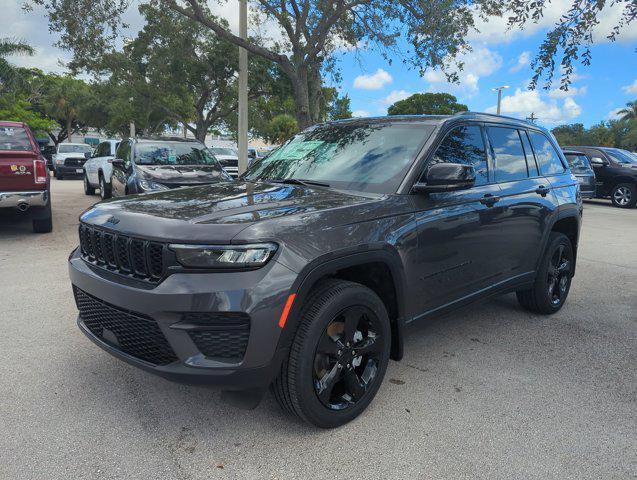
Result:
[[[26,0],[48,12],[50,28],[61,34],[60,45],[76,58],[97,56],[117,36],[129,0]],[[299,128],[319,118],[322,76],[333,72],[334,53],[361,44],[379,49],[388,61],[398,59],[421,73],[439,67],[450,80],[457,80],[462,63],[454,61],[469,48],[468,33],[475,30],[475,18],[508,14],[509,25],[523,27],[537,21],[550,3],[536,0],[251,0],[253,21],[278,26],[281,40],[242,39],[212,16],[202,0],[146,0],[168,8],[209,28],[220,39],[243,47],[252,55],[276,63],[293,87],[295,116]],[[221,1],[221,0],[218,0]],[[634,0],[582,2],[572,4],[540,47],[533,66],[535,87],[546,73],[550,86],[555,57],[562,55],[562,87],[568,88],[573,62],[590,63],[592,30],[605,9],[623,5],[619,23],[609,33],[616,39],[636,17]],[[401,42],[399,43],[399,39]],[[399,48],[402,43],[409,50]],[[583,47],[582,47],[583,45]],[[580,54],[580,50],[584,52]]]

